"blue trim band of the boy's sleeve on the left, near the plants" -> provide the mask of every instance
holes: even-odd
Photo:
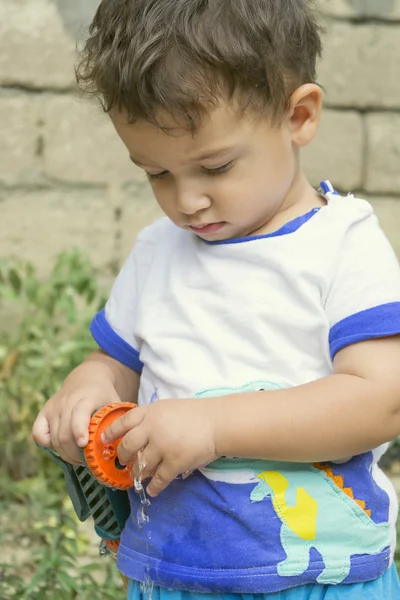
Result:
[[[137,373],[142,372],[143,363],[139,358],[139,352],[114,331],[106,319],[104,308],[93,318],[90,333],[107,354]]]

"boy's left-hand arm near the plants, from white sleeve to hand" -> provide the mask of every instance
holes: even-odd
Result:
[[[33,425],[38,444],[53,446],[73,464],[81,462],[79,447],[88,441],[95,410],[121,400],[137,402],[143,365],[135,336],[136,312],[139,283],[148,272],[152,255],[151,236],[146,234],[144,242],[139,242],[140,237],[113,284],[105,308],[92,320],[90,331],[102,350],[72,371]]]

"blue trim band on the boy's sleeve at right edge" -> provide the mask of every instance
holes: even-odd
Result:
[[[332,327],[329,333],[331,358],[333,360],[339,350],[351,344],[397,334],[400,334],[400,302],[368,308]]]

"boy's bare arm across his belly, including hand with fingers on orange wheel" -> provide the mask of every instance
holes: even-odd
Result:
[[[170,399],[128,412],[105,432],[125,436],[122,463],[144,448],[149,495],[220,456],[339,460],[400,433],[400,336],[354,344],[334,373],[302,386],[217,398]],[[138,474],[138,465],[133,466]]]

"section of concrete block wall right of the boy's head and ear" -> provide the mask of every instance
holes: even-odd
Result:
[[[400,0],[317,5],[325,112],[304,168],[314,185],[326,177],[370,200],[400,257]]]

